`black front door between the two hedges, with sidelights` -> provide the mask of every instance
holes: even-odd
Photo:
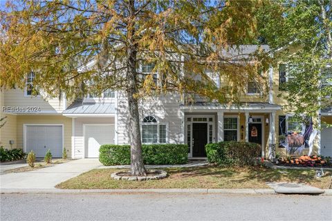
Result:
[[[205,145],[208,144],[208,124],[193,123],[192,124],[192,157],[206,157]]]

